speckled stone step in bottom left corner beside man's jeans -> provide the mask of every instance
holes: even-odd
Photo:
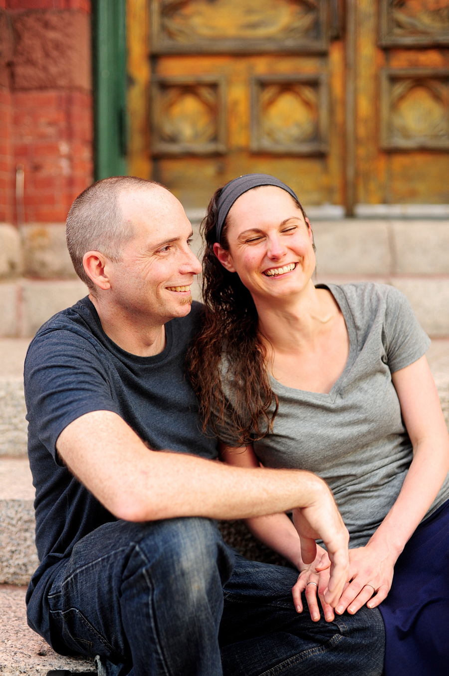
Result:
[[[0,586],[0,674],[97,673],[93,660],[58,655],[26,623],[26,587]]]

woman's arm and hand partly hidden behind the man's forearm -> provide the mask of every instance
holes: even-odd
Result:
[[[253,445],[242,446],[240,448],[231,448],[220,443],[220,458],[228,464],[238,467],[256,468],[260,467],[259,460],[253,450]],[[319,621],[319,607],[317,603],[317,592],[323,607],[324,617],[327,622],[334,619],[334,608],[325,603],[324,594],[329,581],[330,561],[327,552],[317,546],[317,556],[310,564],[305,564],[301,556],[301,546],[298,532],[290,518],[284,512],[280,514],[268,514],[267,516],[255,516],[245,518],[244,523],[249,531],[257,539],[269,547],[274,552],[284,556],[295,568],[300,571],[298,581],[292,589],[292,595],[296,610],[302,612],[303,604],[301,593],[306,592],[307,604],[313,621]],[[325,558],[325,566],[322,565],[322,575],[315,571],[321,560]],[[313,584],[307,586],[311,581]]]

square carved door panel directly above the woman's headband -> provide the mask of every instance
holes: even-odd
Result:
[[[253,151],[286,155],[327,152],[328,95],[324,73],[255,77],[252,89]]]

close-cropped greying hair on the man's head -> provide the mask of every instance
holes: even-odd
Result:
[[[86,251],[100,251],[113,261],[121,259],[124,245],[134,237],[134,226],[132,218],[124,215],[120,195],[140,191],[153,191],[156,200],[176,199],[156,181],[111,176],[90,185],[72,204],[65,229],[67,247],[76,274],[90,291],[94,291],[95,285],[84,270],[83,256]]]

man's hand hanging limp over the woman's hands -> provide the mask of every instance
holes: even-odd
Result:
[[[312,563],[317,556],[315,539],[321,538],[327,548],[331,564],[323,600],[335,608],[349,579],[349,533],[334,496],[324,482],[321,494],[317,495],[311,505],[293,510],[293,523],[300,537],[301,555],[305,564]]]

